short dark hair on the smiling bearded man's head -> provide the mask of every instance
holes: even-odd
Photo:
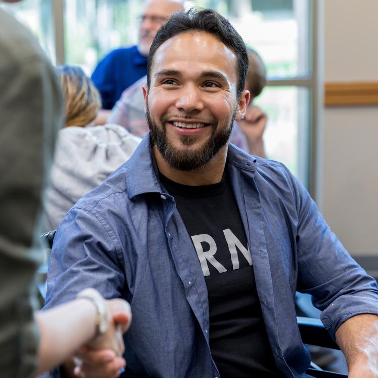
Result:
[[[152,42],[147,63],[147,86],[150,87],[150,74],[156,50],[168,39],[175,35],[199,31],[210,33],[231,49],[237,60],[237,96],[239,97],[245,86],[245,75],[248,70],[248,57],[243,39],[232,25],[219,13],[211,9],[191,8],[185,12],[174,13],[163,25]]]

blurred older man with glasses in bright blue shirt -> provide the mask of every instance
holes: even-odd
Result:
[[[104,124],[122,92],[147,73],[147,56],[156,32],[173,12],[182,9],[181,0],[145,0],[139,24],[137,46],[118,48],[97,65],[92,80],[99,90],[102,107],[96,124]]]

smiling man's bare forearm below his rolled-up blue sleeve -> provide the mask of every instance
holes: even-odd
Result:
[[[378,376],[378,316],[360,314],[348,319],[336,331],[336,341],[350,378]]]

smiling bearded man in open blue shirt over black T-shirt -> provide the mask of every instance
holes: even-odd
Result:
[[[47,306],[86,286],[129,300],[125,377],[298,378],[309,366],[300,290],[322,309],[350,377],[372,377],[374,280],[287,168],[228,143],[248,104],[247,64],[214,11],[176,14],[159,30],[144,88],[151,132],[60,224]],[[86,378],[107,376],[111,362],[82,358]]]

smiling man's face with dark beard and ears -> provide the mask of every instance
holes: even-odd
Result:
[[[237,99],[236,56],[215,36],[185,32],[155,52],[144,88],[151,136],[173,168],[207,164],[226,145],[248,93]]]

